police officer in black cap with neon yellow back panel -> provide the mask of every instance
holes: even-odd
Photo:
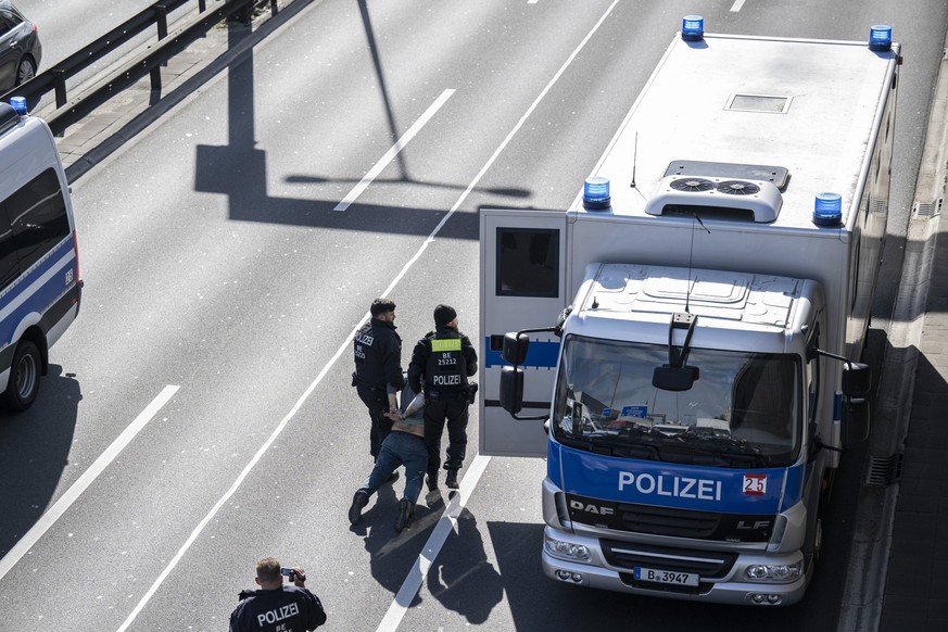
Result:
[[[467,448],[468,377],[478,370],[478,354],[457,329],[457,312],[450,305],[434,308],[434,331],[415,345],[408,366],[408,385],[420,392],[425,380],[425,443],[428,445],[428,489],[438,488],[441,435],[447,420],[447,459],[444,483],[458,488],[457,470]]]

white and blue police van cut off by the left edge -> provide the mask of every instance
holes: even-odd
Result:
[[[36,400],[83,282],[55,140],[23,98],[10,101],[0,103],[0,406],[18,412]]]

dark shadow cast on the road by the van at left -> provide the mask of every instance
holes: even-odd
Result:
[[[39,396],[23,413],[0,414],[0,557],[36,524],[68,465],[83,399],[79,382],[50,365]]]

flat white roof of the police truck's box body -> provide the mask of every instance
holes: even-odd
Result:
[[[776,225],[816,229],[814,197],[824,191],[842,195],[847,224],[897,54],[897,45],[873,52],[865,42],[677,38],[593,175],[609,178],[614,214],[645,215],[675,161],[779,166],[789,181]],[[685,165],[679,173],[720,175],[694,173],[701,170],[715,168]],[[581,200],[573,208],[582,212]]]

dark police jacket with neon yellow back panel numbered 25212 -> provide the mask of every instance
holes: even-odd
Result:
[[[425,389],[432,391],[460,391],[466,389],[467,378],[478,372],[478,353],[470,339],[451,327],[442,326],[418,341],[408,365],[408,384],[420,392],[421,378]]]

